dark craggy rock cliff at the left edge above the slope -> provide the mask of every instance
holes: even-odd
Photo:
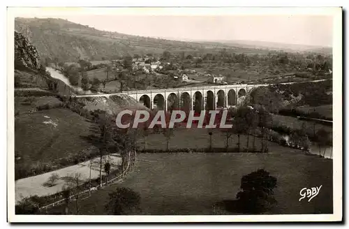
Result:
[[[15,68],[40,68],[40,59],[36,47],[29,43],[23,34],[15,31]]]

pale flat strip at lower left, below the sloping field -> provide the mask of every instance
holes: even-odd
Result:
[[[108,156],[109,162],[111,163],[111,170],[117,168],[117,165],[121,164],[121,158],[119,154],[111,154]],[[107,160],[107,156],[103,157],[103,164]],[[94,158],[91,160],[91,179],[96,179],[99,177],[99,168],[100,168],[100,158]],[[46,172],[41,175],[37,175],[34,177],[27,177],[23,179],[18,179],[15,181],[15,200],[16,202],[22,200],[22,198],[29,197],[30,195],[52,195],[62,190],[62,187],[66,184],[64,181],[64,177],[70,177],[75,175],[75,173],[79,173],[81,175],[81,179],[85,182],[89,180],[89,172],[90,172],[90,161],[84,161],[77,165],[72,165],[66,168],[62,168],[60,170],[55,170],[52,172]],[[104,172],[104,171],[103,171]],[[59,180],[56,182],[54,186],[45,186],[45,182],[49,179],[49,177],[57,173],[59,175]]]

